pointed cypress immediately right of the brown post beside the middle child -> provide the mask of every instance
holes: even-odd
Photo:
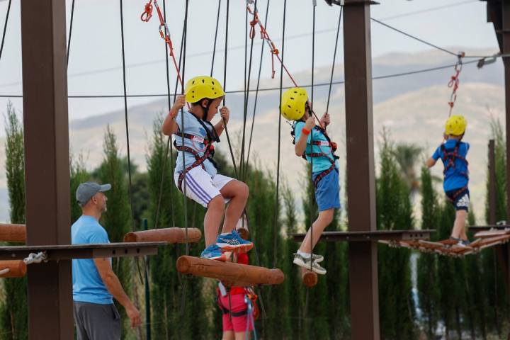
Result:
[[[378,229],[412,229],[409,189],[398,169],[395,149],[385,132],[382,138],[376,196]],[[416,330],[410,251],[380,246],[378,256],[381,337],[413,339]]]

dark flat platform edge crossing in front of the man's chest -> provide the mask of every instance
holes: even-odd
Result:
[[[166,242],[2,246],[0,260],[23,260],[30,253],[40,252],[45,252],[47,261],[154,255],[158,246],[166,246]]]

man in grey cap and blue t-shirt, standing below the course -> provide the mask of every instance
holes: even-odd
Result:
[[[71,227],[72,244],[110,243],[106,230],[99,224],[106,212],[105,191],[110,184],[86,182],[78,186],[77,203],[82,215]],[[111,259],[72,260],[73,313],[78,340],[120,339],[120,316],[113,297],[125,308],[131,327],[140,325],[140,312],[123,290],[113,273]]]

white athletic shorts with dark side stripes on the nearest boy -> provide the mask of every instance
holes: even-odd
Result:
[[[232,181],[231,177],[216,174],[211,176],[202,166],[195,166],[190,171],[186,171],[186,196],[207,208],[212,198],[221,195],[220,190]],[[179,173],[174,174],[174,182],[179,188]],[[184,179],[181,183],[184,191]],[[225,203],[230,199],[225,198]]]

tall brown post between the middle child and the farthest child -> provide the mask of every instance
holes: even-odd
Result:
[[[344,62],[348,230],[375,230],[370,1],[346,0]],[[363,207],[363,208],[362,208]],[[377,245],[349,244],[352,339],[379,339]]]

